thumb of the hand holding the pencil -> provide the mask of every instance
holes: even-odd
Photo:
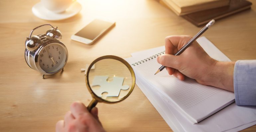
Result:
[[[175,56],[172,54],[163,54],[157,57],[157,62],[166,67],[171,67],[174,69],[180,69],[181,61],[179,55]]]

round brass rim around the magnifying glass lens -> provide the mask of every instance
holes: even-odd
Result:
[[[123,64],[126,65],[126,67],[129,69],[129,71],[130,71],[130,73],[131,73],[131,75],[132,75],[132,86],[131,86],[131,89],[130,89],[129,93],[128,93],[127,95],[125,95],[123,98],[118,99],[118,101],[108,101],[108,100],[102,99],[102,98],[98,97],[98,96],[92,91],[92,89],[91,89],[91,87],[90,87],[89,78],[88,78],[88,77],[89,77],[89,72],[90,72],[90,70],[91,70],[91,67],[92,67],[96,62],[98,62],[98,61],[100,61],[100,60],[103,60],[103,59],[115,59],[115,60],[118,60],[118,61],[122,62]],[[88,89],[89,92],[91,93],[93,99],[95,99],[95,100],[98,101],[98,102],[106,102],[106,103],[112,104],[112,103],[118,103],[118,102],[123,101],[124,99],[126,99],[126,98],[132,93],[132,91],[133,91],[133,89],[134,89],[134,86],[135,86],[135,74],[134,74],[134,71],[133,71],[131,65],[130,65],[127,61],[125,61],[124,59],[122,59],[122,58],[120,58],[120,57],[118,57],[118,56],[114,56],[114,55],[106,55],[106,56],[101,56],[101,57],[95,59],[95,60],[90,64],[90,66],[88,67],[87,73],[86,73],[85,82],[86,82],[87,89]]]

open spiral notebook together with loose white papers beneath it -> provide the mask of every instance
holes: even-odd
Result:
[[[229,59],[205,37],[201,37],[197,39],[197,41],[211,57],[217,60],[229,61]],[[165,71],[162,71],[163,74],[161,76],[151,79],[150,70],[153,69],[151,69],[151,66],[157,66],[152,70],[152,74],[154,75],[156,69],[161,65],[157,65],[156,58],[154,56],[152,59],[148,55],[151,54],[152,56],[152,54],[158,53],[155,51],[163,50],[164,47],[160,47],[132,53],[133,57],[127,58],[126,60],[132,65],[135,71],[136,84],[174,131],[238,131],[256,124],[255,107],[238,107],[235,104],[229,105],[227,108],[224,108],[224,110],[208,117],[233,101],[233,93],[231,92],[214,87],[203,86],[203,88],[208,89],[212,93],[208,93],[208,90],[204,91],[204,93],[200,93],[198,89],[202,87],[197,87],[200,84],[195,84],[196,82],[194,83],[191,79],[187,79],[185,82],[179,81],[170,75],[164,74]],[[148,58],[147,61],[144,60],[144,58]],[[144,60],[144,62],[141,60]],[[144,69],[140,69],[140,66],[144,67]],[[143,71],[148,72],[148,74]],[[143,74],[148,77],[143,76]],[[163,79],[172,83],[168,84],[168,89],[163,88],[166,86],[165,81],[161,82]],[[179,92],[177,87],[181,89],[181,92]],[[186,92],[186,89],[190,92]],[[193,89],[195,91],[193,91]],[[196,95],[200,99],[194,99],[192,98],[192,95]],[[217,101],[215,100],[217,97],[215,95],[218,95],[219,97]],[[227,95],[226,98],[222,97],[223,95]],[[214,100],[215,102],[213,103],[212,101]],[[225,102],[224,105],[221,101]],[[205,117],[208,118],[204,119]],[[198,121],[201,122],[193,124],[191,121],[194,123]]]

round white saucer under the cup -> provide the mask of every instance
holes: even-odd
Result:
[[[76,15],[79,13],[82,9],[82,6],[78,2],[72,3],[70,7],[66,9],[63,13],[54,13],[49,10],[47,10],[41,2],[37,3],[33,6],[32,12],[35,16],[44,19],[44,20],[62,20],[69,18],[71,16]]]

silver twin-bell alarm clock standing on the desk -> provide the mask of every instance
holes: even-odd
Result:
[[[47,25],[52,28],[46,34],[31,36],[34,30]],[[34,28],[26,38],[25,60],[32,69],[43,74],[43,79],[45,75],[53,75],[63,70],[67,62],[67,48],[59,39],[62,39],[60,30],[51,24]]]

